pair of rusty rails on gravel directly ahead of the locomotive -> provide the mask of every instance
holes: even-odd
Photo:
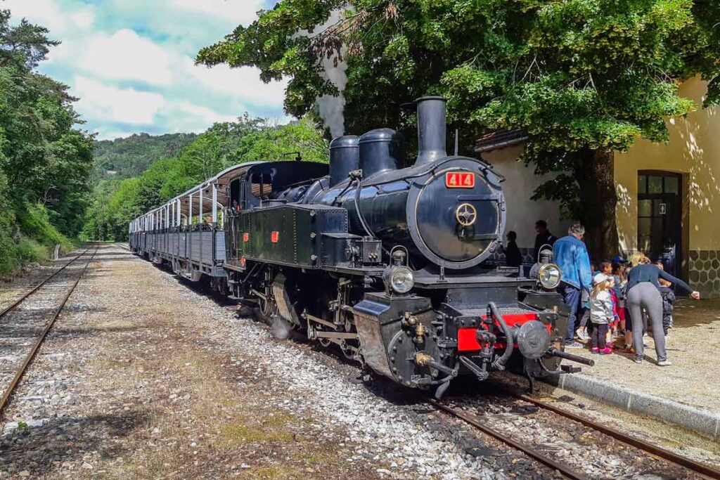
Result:
[[[540,399],[530,397],[526,394],[518,393],[517,391],[507,389],[504,386],[500,386],[500,389],[502,389],[505,393],[509,394],[511,397],[520,400],[521,402],[526,402],[528,404],[534,405],[534,407],[539,407],[539,409],[542,409],[546,412],[551,412],[554,415],[562,416],[564,417],[564,419],[572,420],[572,422],[578,422],[584,427],[588,428],[593,433],[607,435],[614,440],[618,440],[621,443],[624,443],[629,448],[642,450],[644,453],[647,454],[647,456],[650,456],[652,458],[659,458],[664,461],[670,462],[675,466],[685,468],[688,471],[696,473],[705,478],[720,479],[720,470],[712,466],[708,466],[704,463],[700,463],[690,458],[680,456],[677,453],[673,453],[672,451],[666,450],[665,448],[662,448],[658,445],[647,443],[644,440],[639,440],[638,438],[631,437],[630,435],[627,435],[620,430],[608,427],[608,425],[600,424],[598,422],[595,422],[594,420],[590,420],[587,417],[575,415],[572,412],[568,412],[567,410],[556,407],[555,405],[549,404],[548,402],[544,402]],[[532,458],[535,461],[542,463],[544,466],[558,471],[560,474],[562,474],[562,476],[568,479],[585,480],[592,478],[584,472],[578,471],[577,468],[574,468],[571,465],[567,465],[566,463],[559,461],[559,459],[557,458],[552,458],[552,456],[542,452],[540,448],[537,448],[536,445],[533,445],[531,442],[524,443],[521,440],[513,438],[516,437],[516,435],[514,434],[503,433],[502,429],[498,428],[497,426],[493,426],[493,423],[495,422],[487,422],[487,420],[483,419],[482,415],[473,415],[472,413],[467,412],[467,410],[465,409],[451,407],[444,402],[438,402],[436,399],[429,399],[428,403],[433,405],[433,407],[436,407],[436,409],[445,412],[448,415],[451,415],[451,417],[455,417],[459,420],[462,420],[463,422],[466,422],[475,429],[480,430],[482,433],[490,435],[496,440],[500,440],[500,442],[505,443],[505,445],[509,445],[510,447],[521,451],[529,458]],[[567,422],[554,422],[554,425],[567,425]]]

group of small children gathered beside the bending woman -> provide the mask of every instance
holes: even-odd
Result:
[[[625,306],[627,276],[631,268],[638,264],[650,263],[642,253],[635,254],[630,261],[616,257],[613,261],[603,261],[593,271],[593,290],[582,299],[584,314],[580,320],[577,336],[581,340],[590,340],[590,351],[600,355],[613,353],[613,338],[624,336],[624,348],[632,350],[632,321],[630,312]],[[662,263],[655,265],[663,269]],[[660,279],[660,296],[662,296],[662,327],[665,335],[672,328],[672,312],[675,303],[675,292],[670,282]],[[643,333],[647,330],[647,320],[643,318]]]

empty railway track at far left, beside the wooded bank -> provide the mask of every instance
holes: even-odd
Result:
[[[68,261],[0,312],[0,417],[98,248],[92,253],[90,250]],[[68,268],[82,257],[87,258],[82,268]]]

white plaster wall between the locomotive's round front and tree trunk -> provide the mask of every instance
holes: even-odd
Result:
[[[548,176],[537,176],[533,166],[518,161],[523,147],[512,147],[482,153],[482,159],[492,169],[505,177],[503,193],[508,207],[508,222],[505,233],[514,230],[518,234],[518,247],[533,248],[535,245],[535,222],[544,219],[550,232],[556,237],[567,235],[569,219],[560,219],[560,208],[556,201],[531,200],[536,187],[547,181]]]

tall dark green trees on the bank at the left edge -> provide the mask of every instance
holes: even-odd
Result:
[[[55,45],[0,11],[0,276],[73,248],[83,226],[92,138],[68,87],[36,71]]]

